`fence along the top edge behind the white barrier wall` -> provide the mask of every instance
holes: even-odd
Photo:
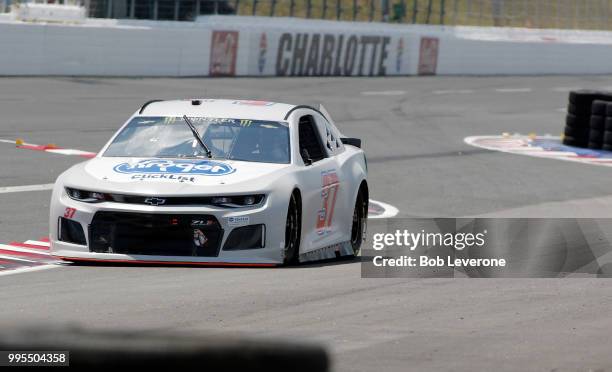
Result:
[[[19,0],[0,0],[0,12],[8,11],[11,2],[16,1]],[[198,15],[238,14],[366,22],[612,30],[612,0],[85,0],[85,4],[89,16],[98,18],[189,21]]]

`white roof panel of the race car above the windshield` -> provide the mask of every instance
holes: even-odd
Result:
[[[139,110],[141,116],[183,116],[286,121],[297,106],[268,101],[194,98],[149,101]]]

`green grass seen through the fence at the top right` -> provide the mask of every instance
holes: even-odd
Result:
[[[234,4],[236,0],[229,0]],[[390,22],[564,29],[612,29],[612,0],[503,0],[501,17],[493,0],[389,0]],[[500,0],[501,1],[501,0]],[[253,14],[254,0],[239,0],[238,14]],[[291,1],[259,0],[255,14],[290,16]],[[308,3],[310,14],[308,14]],[[400,4],[405,4],[405,12]],[[356,4],[356,6],[354,6]],[[337,7],[340,13],[337,14]],[[396,6],[394,6],[396,5]],[[416,6],[416,7],[415,7]],[[396,11],[394,11],[396,9]],[[415,12],[416,9],[416,12]],[[431,9],[431,10],[430,10]],[[295,17],[381,21],[381,0],[295,0]]]

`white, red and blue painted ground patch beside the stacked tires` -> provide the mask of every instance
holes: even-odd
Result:
[[[465,138],[465,142],[492,151],[612,166],[612,152],[566,146],[560,137],[554,136],[474,136]]]

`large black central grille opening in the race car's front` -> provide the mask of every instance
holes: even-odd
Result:
[[[222,238],[211,215],[97,212],[89,225],[96,253],[217,257]]]

